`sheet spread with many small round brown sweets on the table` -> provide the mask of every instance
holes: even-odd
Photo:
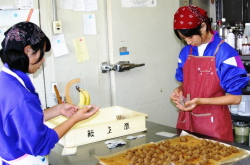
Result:
[[[170,162],[176,165],[216,165],[218,161],[240,152],[233,146],[183,136],[134,147],[123,154],[102,158],[100,162],[105,165],[167,165]]]

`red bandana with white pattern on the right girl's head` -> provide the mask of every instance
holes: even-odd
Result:
[[[183,6],[174,15],[174,29],[193,29],[207,19],[205,10],[194,5]]]

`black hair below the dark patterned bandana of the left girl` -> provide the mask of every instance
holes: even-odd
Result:
[[[41,39],[35,45],[31,45],[32,50],[34,51],[33,54],[36,54],[40,50],[40,56],[36,63],[40,62],[44,57],[44,45],[46,44],[46,52],[48,52],[51,48],[50,41],[47,37]],[[7,63],[10,69],[20,70],[24,73],[28,73],[29,69],[29,58],[24,53],[24,51],[20,52],[19,50],[10,49],[3,52],[3,49],[0,50],[0,57],[2,62],[5,64]]]

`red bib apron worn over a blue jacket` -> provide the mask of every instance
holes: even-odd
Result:
[[[221,42],[223,43],[223,41]],[[220,44],[221,44],[220,43]],[[189,55],[183,67],[183,94],[190,99],[224,96],[216,73],[215,56]],[[190,48],[190,54],[192,49]],[[231,114],[227,105],[198,105],[193,111],[180,111],[177,128],[234,141]]]

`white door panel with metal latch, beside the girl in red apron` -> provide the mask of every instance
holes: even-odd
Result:
[[[158,0],[152,8],[122,8],[120,1],[109,2],[113,62],[145,63],[126,73],[114,73],[117,105],[148,114],[148,121],[174,127],[178,113],[170,95],[178,86],[174,75],[181,45],[173,30],[178,1]],[[130,55],[119,55],[123,46]]]

